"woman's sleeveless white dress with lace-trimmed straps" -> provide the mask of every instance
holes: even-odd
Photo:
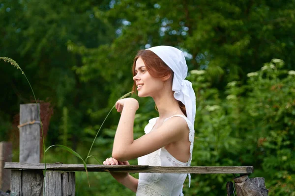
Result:
[[[183,115],[175,115],[172,117],[182,117],[185,119],[189,128],[190,157],[188,162],[183,163],[173,157],[165,147],[162,147],[150,154],[138,158],[138,165],[149,166],[174,166],[186,167],[190,166],[192,160],[192,151],[194,143],[194,126]],[[172,118],[169,117],[164,120]],[[155,125],[157,118],[150,119],[145,127],[145,133],[148,134]],[[189,183],[190,183],[190,174]],[[139,173],[138,187],[136,196],[183,196],[182,187],[187,173]]]

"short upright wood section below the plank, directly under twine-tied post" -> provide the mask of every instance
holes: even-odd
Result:
[[[42,171],[22,171],[22,196],[42,196],[43,178]]]

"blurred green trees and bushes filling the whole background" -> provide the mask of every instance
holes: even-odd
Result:
[[[192,165],[251,165],[250,177],[265,177],[270,196],[294,195],[294,13],[293,0],[2,0],[0,56],[16,60],[37,98],[54,105],[47,146],[86,156],[104,117],[132,87],[136,51],[177,47],[197,96]],[[12,66],[0,62],[0,78],[1,141],[15,137],[13,117],[31,95]],[[138,100],[135,137],[157,116],[152,99]],[[92,154],[101,160],[111,155],[118,118],[113,112],[95,141]],[[78,162],[52,151],[50,162]],[[108,173],[89,177],[97,186],[89,189],[79,174],[78,193],[131,194]],[[225,195],[231,179],[194,174],[184,193]]]

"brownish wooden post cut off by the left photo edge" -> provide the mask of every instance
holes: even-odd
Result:
[[[11,170],[4,170],[4,163],[12,161],[12,143],[0,142],[0,190],[10,190]]]

